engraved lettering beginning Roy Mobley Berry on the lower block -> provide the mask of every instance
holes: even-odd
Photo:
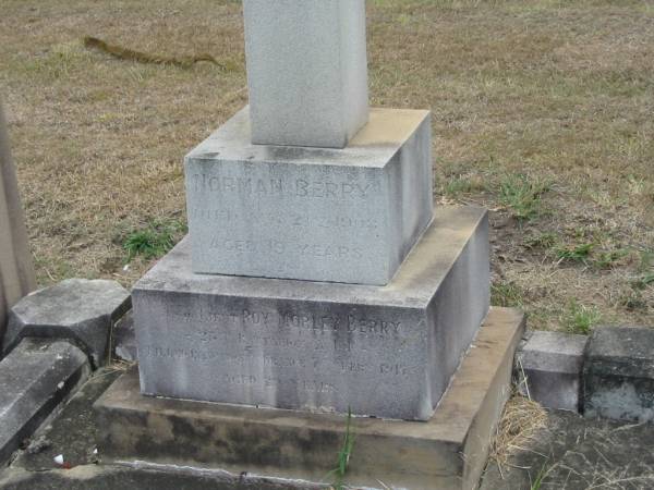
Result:
[[[400,351],[424,347],[424,339],[396,319],[358,310],[230,310],[174,299],[167,302],[167,313],[170,330],[178,332],[177,344],[141,346],[144,362],[208,369],[216,372],[217,382],[234,389],[332,396],[349,378],[384,378],[400,387],[423,371],[420,363],[393,362],[391,356]]]

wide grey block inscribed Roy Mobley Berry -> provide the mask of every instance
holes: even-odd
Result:
[[[146,394],[426,420],[488,311],[481,209],[439,209],[384,287],[194,274],[189,248],[133,290]]]

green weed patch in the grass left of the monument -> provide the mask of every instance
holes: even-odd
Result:
[[[174,246],[177,235],[185,231],[183,222],[170,220],[152,221],[146,228],[129,233],[123,242],[123,248],[128,253],[126,262],[137,255],[148,260],[161,257]]]

